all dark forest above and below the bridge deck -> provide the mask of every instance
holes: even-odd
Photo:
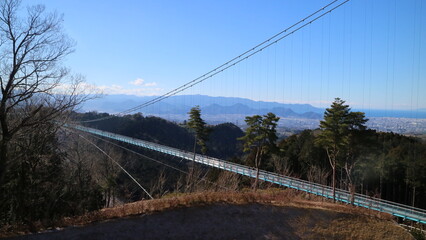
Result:
[[[73,117],[84,121],[105,116],[108,115],[85,113]],[[195,140],[185,124],[141,114],[86,125],[187,151],[193,150]],[[244,154],[242,141],[237,140],[244,135],[240,128],[231,123],[208,128],[207,155],[254,166],[254,156]],[[316,144],[320,132],[305,130],[277,141],[276,148],[264,155],[260,168],[330,185],[327,153]],[[352,171],[356,192],[407,205],[414,201],[416,207],[425,208],[425,143],[394,133],[366,130],[365,134],[367,144],[361,144],[357,150]],[[1,198],[2,221],[53,220],[148,197],[111,159],[85,139],[104,149],[154,197],[171,192],[218,189],[219,185],[241,189],[253,183],[245,177],[193,166],[190,162],[127,144],[58,131],[54,124],[45,124],[17,139],[19,144],[11,148],[10,156],[19,161],[14,162],[6,184],[1,186],[5,193]],[[337,165],[336,187],[348,189],[349,180],[342,163]],[[268,186],[260,183],[259,187]]]

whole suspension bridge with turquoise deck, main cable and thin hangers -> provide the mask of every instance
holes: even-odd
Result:
[[[223,73],[224,71],[240,64],[241,62],[247,61],[249,58],[252,58],[253,56],[259,54],[263,50],[266,50],[267,48],[276,45],[281,40],[283,40],[283,39],[285,39],[289,36],[292,36],[294,33],[302,30],[303,28],[311,25],[312,23],[318,21],[319,19],[323,18],[324,16],[330,14],[331,12],[340,8],[341,6],[346,4],[347,2],[349,2],[349,0],[332,1],[330,4],[324,6],[323,8],[319,9],[318,11],[310,14],[306,18],[303,18],[302,20],[300,20],[299,22],[290,26],[289,28],[286,28],[282,32],[280,32],[280,33],[272,36],[271,38],[267,39],[266,41],[256,45],[255,47],[249,49],[248,51],[244,52],[243,54],[238,55],[235,58],[232,58],[231,60],[229,60],[229,61],[225,62],[224,64],[214,68],[213,70],[207,72],[206,74],[204,74],[204,75],[202,75],[198,78],[195,78],[192,81],[189,81],[188,83],[186,83],[186,84],[184,84],[180,87],[177,87],[177,88],[175,88],[171,91],[168,91],[167,93],[165,93],[161,96],[153,98],[150,101],[147,101],[143,104],[140,104],[140,105],[135,106],[133,108],[130,108],[128,110],[122,111],[122,112],[118,113],[118,115],[125,115],[125,114],[129,114],[131,112],[138,111],[142,108],[145,108],[147,106],[150,106],[152,104],[160,102],[164,99],[167,99],[171,96],[179,94],[179,93],[181,93],[181,92],[183,92],[187,89],[193,88],[194,86],[205,82],[207,79],[217,77],[217,75]],[[367,39],[367,38],[365,38],[365,39]],[[420,39],[420,37],[419,37],[419,39]],[[395,56],[394,56],[395,53],[389,52],[389,46],[390,45],[388,43],[388,56],[393,54],[393,58],[395,58]],[[330,46],[329,46],[329,48],[330,48]],[[373,51],[372,48],[373,47],[371,47],[371,52]],[[291,51],[293,51],[293,50],[291,50]],[[330,55],[330,50],[328,49],[328,51],[329,51],[329,55]],[[366,51],[366,50],[364,49],[364,51]],[[276,59],[276,50],[275,50],[274,54],[275,55],[273,57]],[[302,55],[303,55],[303,52],[302,52]],[[343,55],[345,55],[345,53]],[[343,57],[345,57],[345,56],[343,56]],[[302,56],[302,58],[303,58],[303,56]],[[321,57],[321,59],[322,59],[322,57]],[[420,59],[420,57],[419,57],[419,59]],[[389,57],[388,57],[388,60],[389,60]],[[393,59],[391,59],[391,60],[393,61],[393,65],[395,65],[395,61]],[[371,60],[368,60],[368,59],[364,62],[368,62],[368,61],[371,62]],[[302,62],[302,65],[304,63],[305,64],[307,63],[306,60],[304,60],[304,59],[302,59],[301,62]],[[391,61],[388,61],[388,62],[391,62]],[[258,64],[258,62],[254,62],[253,64]],[[279,62],[279,64],[281,64],[281,62]],[[314,62],[313,62],[313,60],[311,62],[311,60],[309,58],[308,66],[310,67],[311,64],[313,65]],[[329,62],[327,64],[330,65]],[[275,65],[277,65],[276,62],[275,62]],[[322,66],[323,63],[321,62],[318,65]],[[325,63],[324,63],[324,65],[325,65]],[[349,62],[348,65],[350,65],[350,62]],[[365,65],[365,63],[364,63],[364,65]],[[275,67],[276,66],[274,66],[274,68]],[[387,68],[389,69],[391,67],[392,66],[388,63]],[[241,70],[241,72],[245,72],[244,74],[247,75],[247,72],[248,72],[247,69],[248,68],[249,67],[247,67],[247,65],[246,65],[246,68]],[[343,70],[344,69],[345,69],[345,65],[343,63]],[[419,64],[419,69],[420,69],[420,64]],[[328,69],[328,71],[329,70],[330,69]],[[274,69],[274,71],[275,71],[274,77],[277,78],[276,77],[276,72],[277,72],[276,69]],[[351,73],[350,71],[351,70],[349,70],[349,74]],[[390,71],[390,70],[386,70],[386,71]],[[321,68],[321,78],[324,75],[322,72],[323,71],[322,71],[322,68]],[[365,77],[367,75],[366,72],[367,71],[366,71],[366,68],[364,66],[364,69],[363,69],[363,75],[364,75],[363,87],[364,88],[366,86],[365,82],[368,80]],[[414,70],[413,70],[413,72],[414,72]],[[304,72],[303,72],[303,69],[302,69],[302,80],[303,80],[303,74],[304,74]],[[371,75],[371,73],[370,73],[370,75]],[[415,74],[413,74],[413,75],[415,75]],[[345,73],[343,73],[343,79],[344,79],[344,76],[345,76]],[[283,75],[283,77],[285,77],[285,76]],[[417,79],[417,77],[415,77],[415,80],[416,79]],[[345,85],[345,82],[343,82],[343,81],[344,80],[342,80],[342,92],[343,92],[343,86]],[[415,91],[418,91],[418,90],[413,90],[415,84],[412,84],[412,86],[413,86],[412,87],[412,93],[415,92]],[[207,85],[206,87],[209,88],[210,86]],[[322,85],[321,85],[321,87],[322,87]],[[274,88],[274,86],[271,86],[271,88]],[[388,88],[388,85],[386,85],[386,94],[388,94],[388,92],[389,92],[387,88]],[[389,86],[389,88],[390,88],[390,86]],[[350,89],[350,87],[349,87],[349,89]],[[348,91],[350,91],[350,90],[348,90]],[[393,91],[393,85],[392,85],[392,91]],[[371,92],[371,90],[370,90],[370,92]],[[369,93],[369,94],[371,95],[371,93]],[[308,95],[309,95],[309,93],[308,93]],[[386,95],[386,98],[388,98],[388,95]],[[417,102],[418,102],[418,99],[419,99],[419,93],[417,92]],[[364,101],[364,92],[363,92],[362,101]],[[393,104],[393,102],[392,102],[392,104]],[[106,119],[111,118],[111,117],[113,117],[113,115],[107,116],[107,117],[104,117],[104,118],[89,120],[89,121],[82,121],[81,123],[102,121],[102,120],[106,120]],[[64,127],[68,128],[68,129],[82,131],[82,132],[85,132],[85,133],[88,133],[88,134],[91,134],[91,135],[95,135],[95,136],[99,136],[99,137],[102,137],[102,138],[111,139],[111,140],[118,141],[118,142],[132,144],[132,145],[135,145],[135,146],[139,146],[139,147],[146,148],[146,149],[149,149],[149,150],[152,150],[152,151],[171,155],[171,156],[178,157],[178,158],[181,158],[181,159],[185,159],[185,160],[188,160],[188,161],[195,161],[199,164],[203,164],[203,165],[214,167],[214,168],[219,168],[219,169],[222,169],[222,170],[230,171],[230,172],[237,173],[237,174],[244,175],[244,176],[251,177],[251,178],[256,178],[256,175],[257,175],[256,174],[257,171],[254,168],[244,166],[244,165],[240,165],[240,164],[236,164],[236,163],[232,163],[232,162],[228,162],[228,161],[224,161],[222,159],[212,158],[212,157],[204,156],[204,155],[200,155],[200,154],[195,154],[195,156],[194,156],[194,153],[191,153],[191,152],[186,152],[186,151],[179,150],[179,149],[176,149],[176,148],[172,148],[172,147],[168,147],[168,146],[164,146],[164,145],[161,145],[161,144],[152,143],[152,142],[148,142],[148,141],[143,141],[143,140],[119,135],[119,134],[112,133],[112,132],[106,132],[106,131],[102,131],[102,130],[98,130],[98,129],[94,129],[94,128],[89,128],[89,127],[85,127],[85,126],[82,126],[82,125],[79,125],[79,124],[65,124]],[[273,184],[277,184],[277,185],[280,185],[280,186],[305,191],[305,192],[315,194],[315,195],[318,195],[318,196],[323,196],[325,198],[330,198],[330,199],[333,198],[332,188],[330,186],[321,185],[321,184],[317,184],[317,183],[313,183],[313,182],[308,182],[308,181],[304,181],[304,180],[301,180],[301,179],[297,179],[297,178],[293,178],[293,177],[289,177],[289,176],[284,176],[284,175],[276,174],[276,173],[273,173],[273,172],[267,172],[267,171],[263,171],[263,170],[260,170],[260,172],[259,172],[259,179],[266,181],[266,182],[273,183]],[[412,220],[412,221],[419,222],[419,223],[422,223],[422,224],[426,224],[426,210],[424,210],[424,209],[419,209],[419,208],[411,207],[411,206],[408,206],[408,205],[390,202],[390,201],[386,201],[386,200],[383,200],[383,199],[378,199],[378,198],[374,198],[374,197],[370,197],[370,196],[362,195],[362,194],[355,194],[354,199],[352,201],[351,194],[348,191],[345,191],[345,190],[342,190],[342,189],[336,189],[335,198],[336,198],[336,200],[338,200],[340,202],[353,203],[354,205],[359,206],[359,207],[364,207],[364,208],[367,208],[367,209],[372,209],[372,210],[392,214],[394,216],[397,216],[397,217],[400,217],[400,218],[403,218],[403,219],[408,219],[408,220]]]

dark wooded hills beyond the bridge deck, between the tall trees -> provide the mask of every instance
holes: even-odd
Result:
[[[100,116],[105,115],[87,113],[82,115],[81,119],[88,120]],[[113,117],[88,126],[187,151],[192,151],[194,143],[194,137],[184,125],[156,117],[144,117],[140,114],[121,118]],[[253,156],[244,155],[241,141],[236,140],[243,135],[238,127],[226,123],[210,126],[210,128],[212,131],[207,142],[207,155],[249,165],[254,164]],[[268,153],[260,167],[330,185],[331,168],[327,153],[315,143],[320,132],[321,130],[305,130],[278,141],[277,150]],[[394,133],[365,130],[363,134],[366,136],[363,139],[365,143],[357,144],[360,149],[357,149],[351,172],[356,192],[407,205],[412,205],[414,200],[416,207],[425,208],[425,143],[417,138]],[[149,153],[145,152],[145,154]],[[337,166],[336,184],[338,188],[348,189],[349,179],[344,167],[343,163]],[[414,199],[413,196],[415,196]]]

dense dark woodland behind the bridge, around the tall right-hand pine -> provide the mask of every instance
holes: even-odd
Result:
[[[324,149],[314,144],[319,130],[305,130],[279,143],[284,173],[309,181],[330,183],[331,169]],[[426,145],[394,133],[370,132],[369,145],[354,166],[356,191],[426,208]],[[337,187],[347,189],[344,166],[338,166]],[[273,170],[272,168],[270,168]]]

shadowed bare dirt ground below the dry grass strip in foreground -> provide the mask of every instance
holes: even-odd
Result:
[[[323,209],[213,204],[13,239],[411,239],[405,230],[388,223]],[[347,224],[356,229],[346,228]]]

